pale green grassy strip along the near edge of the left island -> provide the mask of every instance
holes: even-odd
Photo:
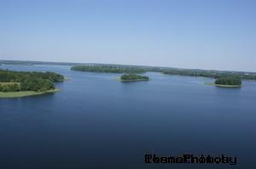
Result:
[[[34,92],[34,91],[7,92],[7,93],[0,92],[0,99],[1,98],[20,98],[20,97],[41,95],[46,93],[56,93],[56,92],[61,92],[61,90],[54,89],[54,90],[48,90],[46,92]]]

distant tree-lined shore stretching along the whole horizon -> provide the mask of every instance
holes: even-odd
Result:
[[[39,61],[18,61],[18,60],[0,60],[1,64],[34,64],[34,65],[70,65],[71,70],[85,72],[106,72],[106,73],[131,73],[142,74],[147,72],[160,72],[169,76],[201,76],[209,78],[236,77],[241,80],[256,81],[256,72],[231,71],[231,70],[201,70],[201,69],[181,69],[172,67],[146,66],[146,65],[115,65],[115,64],[78,64],[78,63],[57,63],[57,62],[39,62]],[[1,69],[1,66],[0,66]],[[133,81],[129,81],[133,82]],[[218,86],[225,87],[225,86]],[[230,87],[230,86],[229,86]],[[238,87],[238,86],[234,86]]]

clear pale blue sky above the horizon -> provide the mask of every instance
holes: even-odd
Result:
[[[0,59],[256,71],[256,1],[0,0]]]

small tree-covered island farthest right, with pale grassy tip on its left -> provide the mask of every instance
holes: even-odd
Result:
[[[241,87],[241,79],[238,77],[219,77],[214,84],[209,84],[216,87]]]

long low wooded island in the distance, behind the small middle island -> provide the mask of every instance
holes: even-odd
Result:
[[[108,73],[145,73],[146,70],[135,66],[120,65],[74,65],[71,70],[108,72]]]

